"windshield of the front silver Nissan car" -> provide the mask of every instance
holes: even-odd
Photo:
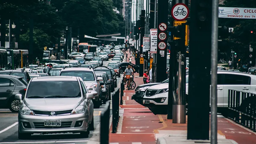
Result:
[[[65,98],[81,97],[77,81],[41,81],[30,82],[26,98]]]

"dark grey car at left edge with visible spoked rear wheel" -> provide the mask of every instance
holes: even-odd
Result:
[[[0,108],[18,112],[21,103],[15,99],[15,95],[21,94],[24,98],[27,86],[27,82],[21,76],[0,75]]]

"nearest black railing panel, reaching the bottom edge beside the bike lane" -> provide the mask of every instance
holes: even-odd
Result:
[[[100,113],[100,144],[109,144],[110,101],[106,106],[107,108]]]

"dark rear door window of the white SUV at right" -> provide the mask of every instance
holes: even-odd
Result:
[[[250,76],[242,76],[242,75],[224,75],[224,84],[251,84]]]

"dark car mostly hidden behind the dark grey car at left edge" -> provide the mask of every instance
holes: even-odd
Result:
[[[26,83],[29,83],[30,77],[28,71],[23,68],[22,70],[2,70],[0,75],[10,75],[10,76],[19,76],[22,77]]]

